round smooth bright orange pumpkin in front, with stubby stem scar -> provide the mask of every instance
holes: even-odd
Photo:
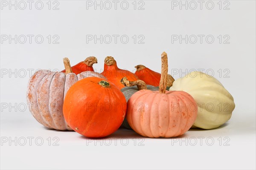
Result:
[[[126,113],[126,100],[111,82],[89,77],[76,82],[67,91],[63,114],[76,132],[90,138],[101,138],[116,131]]]

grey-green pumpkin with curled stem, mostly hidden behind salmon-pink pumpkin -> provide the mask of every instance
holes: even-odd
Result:
[[[124,77],[121,79],[121,82],[123,85],[128,86],[121,89],[122,93],[125,96],[126,102],[128,102],[130,97],[139,90],[148,89],[151,91],[159,91],[159,87],[155,87],[153,85],[146,85],[145,82],[143,82],[142,80],[130,82],[126,77]],[[131,129],[126,118],[124,119],[122,126],[127,129]]]

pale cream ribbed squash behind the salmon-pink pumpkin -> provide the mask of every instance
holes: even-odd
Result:
[[[214,77],[199,71],[174,81],[169,91],[185,91],[198,105],[194,126],[213,129],[227,122],[235,108],[233,96]]]

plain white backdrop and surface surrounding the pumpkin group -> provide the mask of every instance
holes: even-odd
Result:
[[[37,9],[40,4],[35,7],[37,1],[32,3],[31,10],[26,1],[24,10],[20,9],[24,4],[19,6],[19,1],[16,1],[17,9],[15,6],[9,9],[9,1],[5,2],[1,1],[0,12],[1,169],[256,168],[254,0],[222,1],[221,9],[219,1],[211,1],[214,4],[212,10],[208,9],[212,4],[208,1],[204,1],[202,9],[200,3],[194,1],[197,4],[194,10],[191,8],[195,3],[190,1],[187,1],[190,4],[188,9],[185,6],[180,9],[180,6],[174,6],[180,1],[167,0],[137,1],[135,10],[134,1],[126,1],[129,4],[127,10],[122,9],[126,7],[125,3],[121,8],[122,1],[117,3],[116,9],[110,1],[112,8],[109,10],[105,9],[109,4],[104,6],[103,1],[102,9],[96,6],[96,10],[94,6],[87,6],[94,1],[51,2],[50,10],[48,1],[42,1],[44,7],[41,10]],[[15,1],[12,3],[15,4]],[[55,5],[58,5],[58,10],[52,10]],[[141,5],[144,10],[138,10]],[[225,6],[229,9],[224,10]],[[15,35],[34,37],[31,43],[27,37],[22,44],[23,39],[17,40],[17,43],[15,40],[3,40],[9,35],[12,38]],[[37,35],[44,37],[41,44],[35,41]],[[59,43],[49,43],[48,35],[51,40],[57,35]],[[87,42],[88,35],[119,35],[119,38],[116,43],[114,37],[109,44],[106,43],[108,39],[95,43],[93,40]],[[121,42],[122,35],[129,37],[128,43]],[[137,37],[135,43],[134,35]],[[139,35],[144,37],[143,44],[138,43]],[[193,44],[194,39],[188,43],[185,40],[181,43],[174,41],[175,35],[182,35],[183,38],[186,35],[204,37],[202,43],[198,37]],[[214,37],[214,42],[207,42],[207,35]],[[230,37],[229,44],[224,44],[227,37]],[[205,69],[204,72],[214,74],[221,81],[236,103],[230,121],[214,130],[189,130],[174,139],[148,139],[133,131],[118,130],[105,139],[95,141],[75,132],[48,130],[36,122],[28,108],[23,107],[29,69],[32,69],[32,74],[36,69],[62,70],[64,57],[69,57],[71,65],[74,65],[86,57],[95,56],[98,64],[93,67],[101,72],[104,58],[113,56],[119,68],[134,72],[135,65],[143,64],[160,72],[160,54],[163,51],[169,57],[169,74],[178,71],[173,74],[175,79],[193,69]],[[17,107],[11,107],[15,105]],[[15,140],[15,137],[17,146],[15,142],[3,142],[4,139]],[[34,137],[31,146],[28,137]],[[37,145],[40,140],[35,142],[37,137],[44,140],[41,146]],[[59,139],[58,146],[53,144],[54,137]],[[21,146],[24,138],[26,144]],[[112,143],[109,144],[110,141]]]

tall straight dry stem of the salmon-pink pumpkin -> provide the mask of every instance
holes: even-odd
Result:
[[[167,86],[167,75],[168,75],[168,58],[166,52],[161,54],[161,78],[160,78],[160,85],[159,85],[159,93],[164,94],[166,91]]]

